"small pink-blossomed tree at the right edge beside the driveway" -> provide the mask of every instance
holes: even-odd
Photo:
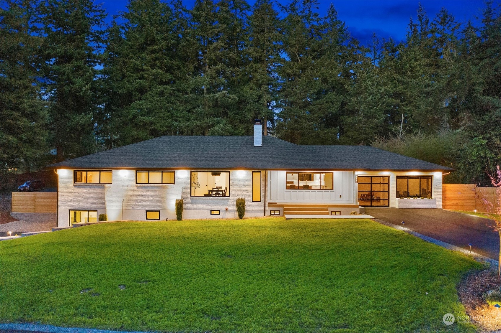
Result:
[[[501,169],[497,165],[493,174],[489,174],[492,186],[494,186],[493,197],[487,197],[485,193],[475,191],[475,195],[480,199],[486,215],[490,218],[490,223],[487,224],[492,228],[492,231],[499,234],[499,256],[497,264],[497,278],[501,275]]]

